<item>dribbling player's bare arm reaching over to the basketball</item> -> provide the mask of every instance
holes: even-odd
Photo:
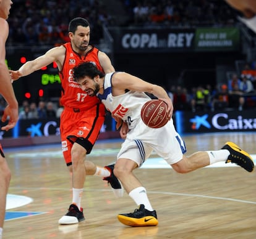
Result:
[[[143,81],[143,79],[130,75],[129,73],[117,72],[112,78],[112,88],[113,95],[124,94],[125,89],[129,89],[130,91],[151,93],[158,97],[158,99],[164,100],[164,102],[167,103],[169,118],[171,118],[173,115],[173,102],[169,98],[167,92],[161,86]]]

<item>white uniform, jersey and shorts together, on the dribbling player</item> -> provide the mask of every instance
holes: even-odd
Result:
[[[186,145],[176,132],[173,119],[158,129],[152,129],[143,123],[140,111],[145,102],[151,98],[137,91],[128,91],[125,94],[113,96],[111,78],[114,73],[105,76],[104,92],[97,97],[114,116],[122,118],[129,126],[126,140],[117,155],[119,158],[128,158],[141,166],[150,154],[155,152],[164,158],[168,164],[177,163],[186,152]]]

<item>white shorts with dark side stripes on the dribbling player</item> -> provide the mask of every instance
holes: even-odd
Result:
[[[153,150],[168,164],[177,163],[182,159],[182,155],[187,151],[186,145],[176,132],[173,120],[158,129],[148,128],[140,120],[136,127],[128,132],[117,160],[128,158],[140,167]]]

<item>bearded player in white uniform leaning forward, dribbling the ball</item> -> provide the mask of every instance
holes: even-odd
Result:
[[[117,155],[114,174],[139,209],[135,209],[134,213],[119,214],[118,219],[123,224],[158,224],[156,211],[148,200],[146,189],[132,172],[142,166],[153,150],[180,173],[191,172],[219,161],[236,163],[249,172],[254,170],[251,156],[233,142],[227,142],[221,150],[185,156],[186,146],[176,132],[171,118],[173,103],[163,87],[124,72],[104,75],[92,62],[81,63],[75,67],[74,79],[88,95],[96,95],[115,118],[124,121],[120,133],[125,141]],[[143,123],[140,110],[143,104],[150,100],[144,92],[153,94],[167,103],[170,120],[162,128],[148,128]]]

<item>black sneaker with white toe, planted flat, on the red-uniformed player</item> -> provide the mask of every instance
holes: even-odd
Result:
[[[85,217],[83,216],[83,208],[80,209],[81,211],[74,204],[70,205],[66,215],[59,219],[59,224],[76,224],[85,220]]]

